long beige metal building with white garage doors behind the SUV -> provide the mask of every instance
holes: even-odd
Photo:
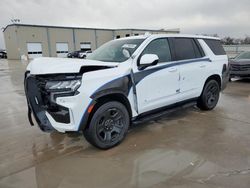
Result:
[[[95,50],[115,38],[150,33],[179,33],[173,30],[97,29],[11,24],[4,29],[8,59],[25,55],[35,57],[66,57],[68,52]]]

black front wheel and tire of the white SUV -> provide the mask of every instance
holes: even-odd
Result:
[[[126,107],[110,101],[101,105],[93,114],[90,124],[83,131],[86,140],[100,149],[117,146],[125,138],[130,124]]]

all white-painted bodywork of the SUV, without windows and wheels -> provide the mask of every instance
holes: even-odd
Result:
[[[182,60],[159,63],[155,66],[139,70],[137,60],[143,49],[154,39],[162,37],[192,37],[198,38],[205,56],[195,60]],[[132,37],[131,37],[132,38]],[[82,85],[78,88],[78,95],[58,97],[56,103],[69,108],[70,123],[56,122],[46,113],[52,126],[60,131],[77,131],[84,113],[92,102],[91,96],[101,87],[114,80],[124,77],[136,77],[138,74],[147,73],[138,83],[133,83],[126,96],[130,106],[132,117],[157,108],[175,104],[180,101],[197,98],[200,96],[207,78],[211,75],[219,75],[222,78],[222,67],[227,64],[227,57],[213,54],[203,38],[212,37],[187,36],[187,35],[152,35],[139,36],[144,42],[133,53],[131,58],[123,63],[101,62],[86,59],[64,58],[37,58],[29,64],[27,70],[32,75],[79,73],[84,66],[108,66],[112,68],[83,73]],[[123,40],[123,39],[119,39]],[[188,62],[188,63],[187,63]],[[156,70],[157,71],[154,71]],[[114,86],[115,87],[115,86]],[[133,91],[133,87],[136,93]]]

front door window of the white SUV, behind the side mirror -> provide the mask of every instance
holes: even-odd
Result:
[[[171,53],[166,38],[153,40],[149,45],[143,50],[144,54],[156,54],[159,57],[159,63],[171,61]]]

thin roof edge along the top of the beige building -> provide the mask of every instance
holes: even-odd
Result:
[[[60,29],[89,29],[89,30],[106,30],[106,31],[114,31],[114,30],[141,30],[141,31],[153,31],[153,32],[180,32],[180,29],[169,29],[169,30],[154,30],[154,29],[106,29],[106,28],[88,28],[88,27],[66,27],[66,26],[51,26],[51,25],[33,25],[33,24],[9,24],[7,25],[3,32],[11,26],[23,26],[23,27],[47,27],[47,28],[60,28]]]

